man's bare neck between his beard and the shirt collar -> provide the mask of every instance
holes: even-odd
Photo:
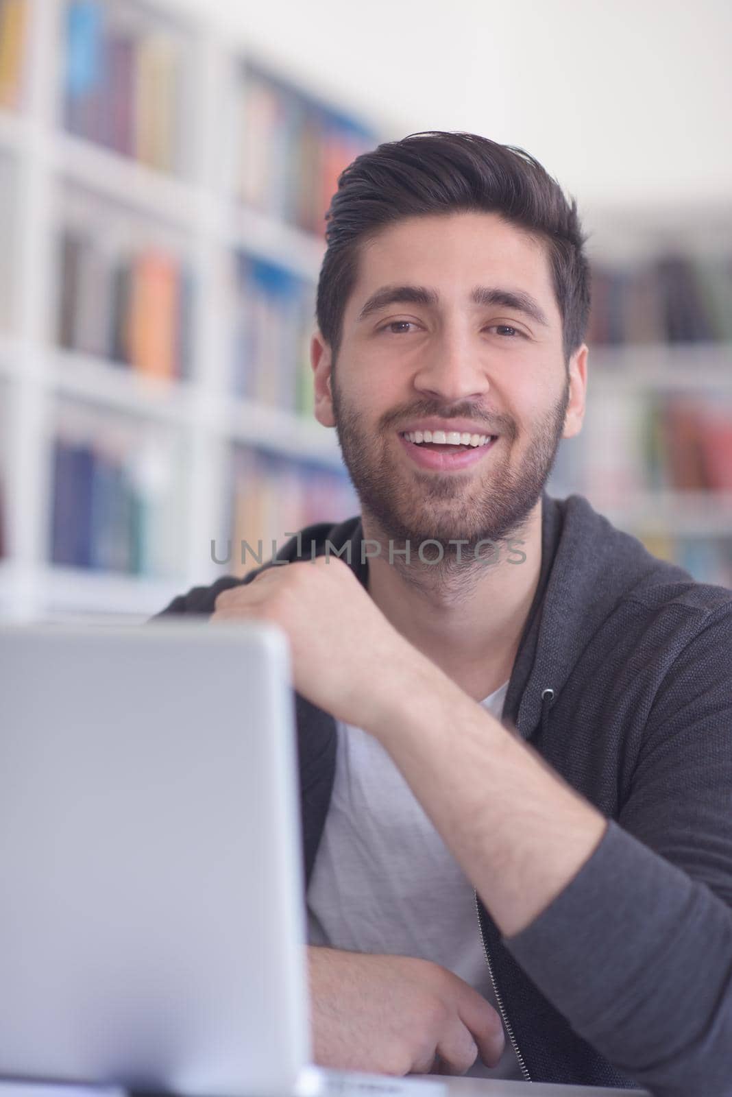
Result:
[[[362,522],[364,539],[382,546],[368,559],[367,589],[387,620],[474,700],[494,692],[511,677],[539,581],[541,499],[515,547],[501,545],[489,565],[390,564],[388,536],[367,516]]]

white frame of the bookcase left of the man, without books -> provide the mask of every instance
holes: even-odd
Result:
[[[174,0],[108,0],[124,18],[150,21],[180,36],[186,58],[184,171],[179,177],[68,133],[61,115],[60,60],[65,0],[27,0],[22,105],[0,110],[0,158],[16,169],[13,281],[15,308],[0,328],[0,420],[5,434],[5,528],[0,561],[0,615],[13,620],[122,615],[145,620],[175,593],[213,581],[227,569],[210,542],[229,534],[226,497],[235,443],[317,462],[344,473],[334,431],[275,407],[231,395],[231,285],[227,263],[253,252],[317,283],[324,241],[237,201],[227,147],[237,118],[232,89],[247,43],[232,43],[205,16]],[[302,89],[318,100],[317,92]],[[342,111],[324,102],[328,110]],[[374,127],[376,131],[376,126]],[[192,376],[171,383],[106,359],[65,350],[56,335],[54,252],[65,189],[91,204],[107,203],[127,218],[178,234],[196,286]],[[0,261],[2,258],[0,257]],[[52,445],[57,409],[75,402],[90,414],[180,432],[190,477],[182,565],[161,578],[49,563]],[[2,466],[0,466],[0,475]]]

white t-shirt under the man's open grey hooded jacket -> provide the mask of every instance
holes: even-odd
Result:
[[[481,704],[499,720],[504,682]],[[473,887],[384,747],[336,722],[335,780],[307,894],[308,943],[419,957],[497,1009]],[[501,1061],[467,1077],[523,1079],[505,1033]]]

